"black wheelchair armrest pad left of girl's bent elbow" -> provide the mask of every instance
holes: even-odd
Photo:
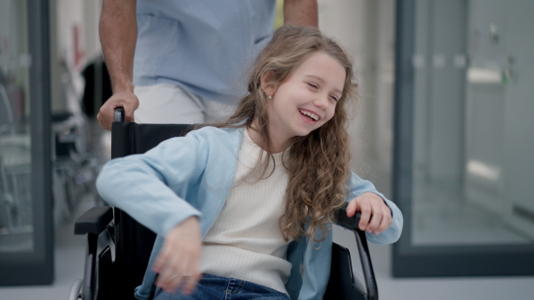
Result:
[[[109,206],[95,206],[78,217],[74,234],[93,233],[99,235],[113,221],[113,209]]]

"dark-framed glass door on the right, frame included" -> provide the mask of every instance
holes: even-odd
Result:
[[[534,2],[397,5],[394,275],[534,274]]]

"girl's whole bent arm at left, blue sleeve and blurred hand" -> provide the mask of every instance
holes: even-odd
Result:
[[[97,178],[105,201],[165,237],[153,271],[159,274],[158,287],[170,293],[182,287],[190,294],[200,278],[200,213],[185,200],[185,193],[206,168],[207,148],[204,139],[191,132],[146,154],[114,159]]]

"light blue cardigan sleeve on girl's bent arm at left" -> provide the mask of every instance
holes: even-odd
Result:
[[[190,182],[206,168],[207,148],[192,131],[145,154],[113,159],[96,180],[98,192],[109,204],[165,236],[186,218],[200,215],[185,199]]]

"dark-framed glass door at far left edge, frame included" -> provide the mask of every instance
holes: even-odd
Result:
[[[53,281],[48,4],[0,1],[0,285]]]

